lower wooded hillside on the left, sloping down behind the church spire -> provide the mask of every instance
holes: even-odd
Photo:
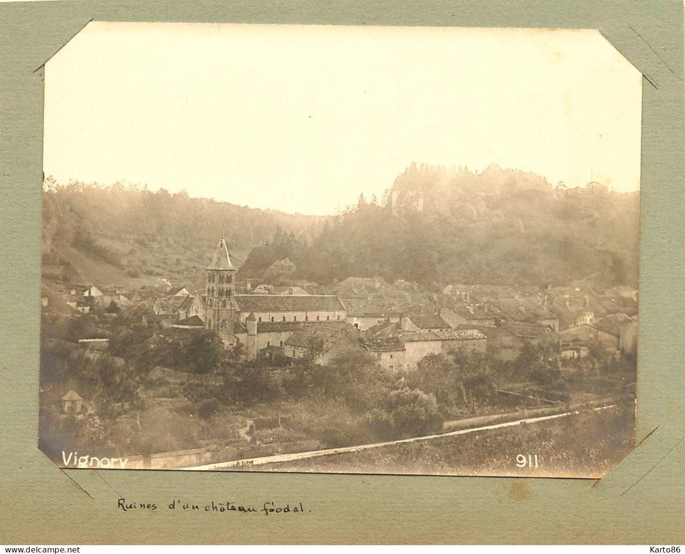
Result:
[[[145,286],[183,284],[205,267],[225,233],[239,266],[253,247],[288,229],[310,241],[323,218],[256,210],[187,193],[72,182],[43,187],[43,273],[63,280]]]

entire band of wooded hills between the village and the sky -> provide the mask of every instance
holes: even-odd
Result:
[[[595,275],[606,286],[636,286],[638,224],[637,192],[566,189],[497,166],[472,173],[412,164],[382,202],[360,197],[329,218],[48,181],[43,269],[101,283],[142,284],[151,275],[182,281],[208,262],[223,230],[240,277],[263,277],[288,258],[290,279],[320,284],[377,275],[435,289],[544,286]]]

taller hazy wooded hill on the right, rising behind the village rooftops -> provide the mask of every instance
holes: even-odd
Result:
[[[288,257],[298,277],[319,283],[379,275],[434,288],[544,286],[595,275],[606,286],[637,286],[638,225],[637,192],[601,184],[566,190],[497,166],[476,174],[412,165],[382,205],[360,197],[310,245],[279,234],[251,252],[242,274],[260,277]]]

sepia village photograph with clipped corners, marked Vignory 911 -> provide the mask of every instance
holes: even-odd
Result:
[[[91,21],[45,64],[40,450],[606,475],[641,104],[593,29]]]

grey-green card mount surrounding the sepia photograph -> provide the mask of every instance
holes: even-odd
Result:
[[[599,29],[643,73],[638,446],[601,480],[64,470],[37,448],[43,66],[88,21]],[[676,1],[173,1],[0,5],[0,542],[683,542],[683,5]],[[11,301],[10,301],[11,299]],[[117,501],[158,503],[155,512]],[[199,514],[173,500],[302,503]],[[239,517],[240,521],[224,518]],[[180,524],[180,525],[179,525]]]

